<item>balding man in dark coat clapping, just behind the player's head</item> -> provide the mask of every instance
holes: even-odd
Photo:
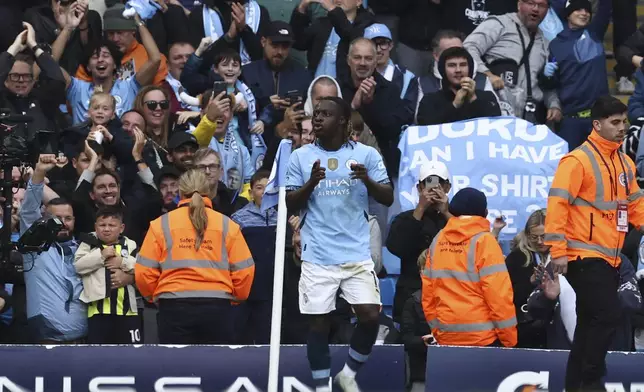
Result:
[[[400,90],[376,71],[373,41],[358,38],[349,47],[350,77],[340,80],[342,97],[351,102],[378,141],[391,177],[398,176],[398,137],[403,125],[413,122],[414,110],[400,99]]]

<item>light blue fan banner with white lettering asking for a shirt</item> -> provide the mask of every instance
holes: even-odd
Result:
[[[502,241],[523,230],[528,216],[544,208],[559,160],[568,143],[545,125],[497,117],[451,124],[409,127],[398,144],[401,151],[398,192],[402,211],[418,203],[420,167],[445,162],[452,196],[473,187],[488,198],[488,219],[506,217]]]

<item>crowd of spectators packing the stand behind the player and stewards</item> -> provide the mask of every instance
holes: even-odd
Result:
[[[150,1],[159,9],[137,1],[143,8],[129,18],[118,0],[0,6],[0,108],[30,117],[10,124],[28,148],[25,165],[14,169],[12,224],[3,230],[15,239],[43,216],[64,225],[48,251],[25,257],[22,281],[0,286],[3,343],[157,342],[154,301],[135,281],[136,255],[150,222],[178,208],[179,181],[190,169],[205,174],[212,208],[239,226],[256,265],[225,343],[268,343],[277,213],[261,209],[262,196],[281,140],[294,149],[316,143],[312,116],[321,98],[351,105],[350,138],[374,147],[392,180],[406,125],[514,116],[547,124],[572,150],[590,134],[593,103],[609,93],[611,13],[620,20],[617,89],[633,93],[624,148],[644,172],[644,28],[636,29],[635,1],[301,0],[288,21],[256,0]],[[563,30],[549,35],[549,18]],[[430,191],[423,181],[431,176],[440,184]],[[387,277],[383,247],[400,259],[381,330],[389,331],[383,341],[404,343],[413,358],[410,382],[423,381],[431,341],[419,256],[450,216],[449,168],[433,162],[421,177],[416,209],[390,221],[371,200],[366,213],[378,276]],[[282,336],[304,343],[301,224],[298,211],[288,216]],[[571,288],[544,279],[545,213],[526,218],[506,260],[517,346],[568,348]],[[502,227],[495,222],[497,235]],[[629,235],[622,252],[625,328],[615,349],[626,351],[644,349],[644,313],[634,305],[639,243]],[[333,342],[349,341],[352,319],[339,298]]]

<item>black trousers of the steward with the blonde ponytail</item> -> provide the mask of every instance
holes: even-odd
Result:
[[[235,344],[230,300],[194,298],[159,301],[159,343]]]

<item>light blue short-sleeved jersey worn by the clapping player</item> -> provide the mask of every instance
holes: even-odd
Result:
[[[361,143],[347,143],[338,151],[307,144],[291,154],[286,189],[304,186],[318,159],[320,167],[326,168],[326,178],[300,212],[302,260],[334,265],[371,259],[369,195],[361,180],[351,179],[351,165],[361,163],[373,181],[389,183],[382,157],[374,148]]]

